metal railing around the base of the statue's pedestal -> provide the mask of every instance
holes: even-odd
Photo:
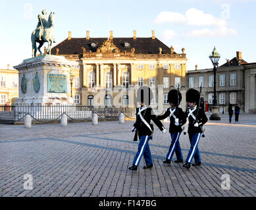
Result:
[[[132,106],[107,107],[107,106],[83,106],[83,105],[16,105],[0,106],[0,121],[24,121],[27,114],[32,116],[34,121],[58,121],[65,113],[73,120],[91,119],[93,113],[96,113],[101,119],[117,120],[120,113],[126,117],[134,117],[135,108]]]

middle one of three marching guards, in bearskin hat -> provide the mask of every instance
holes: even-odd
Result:
[[[170,117],[170,127],[169,133],[171,137],[170,148],[168,153],[166,154],[166,159],[163,163],[170,164],[172,160],[172,156],[174,152],[176,154],[176,161],[174,163],[183,163],[182,150],[180,148],[180,134],[182,133],[182,125],[186,123],[186,116],[182,110],[179,108],[180,102],[182,100],[182,95],[180,91],[173,89],[168,93],[168,103],[170,104],[170,108],[168,108],[162,116],[157,116],[157,119],[165,119],[166,117]]]

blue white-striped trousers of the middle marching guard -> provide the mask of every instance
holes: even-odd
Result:
[[[179,142],[180,133],[179,132],[171,133],[170,137],[172,138],[172,140],[170,142],[170,148],[166,155],[166,159],[172,159],[174,152],[178,160],[183,159],[182,149],[180,148],[180,142]]]

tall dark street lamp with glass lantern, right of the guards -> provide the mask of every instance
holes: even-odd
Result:
[[[218,105],[217,105],[217,97],[216,97],[216,71],[218,66],[218,60],[220,59],[220,54],[217,53],[216,48],[213,49],[213,52],[210,54],[209,58],[213,63],[213,84],[214,84],[214,93],[213,93],[213,106],[211,106],[211,116],[210,120],[220,120],[220,115],[218,112]]]

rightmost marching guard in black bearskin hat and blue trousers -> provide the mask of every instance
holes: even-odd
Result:
[[[200,91],[201,92],[201,91]],[[188,136],[190,138],[190,151],[186,163],[183,167],[190,168],[192,159],[195,159],[193,166],[201,165],[201,158],[199,154],[198,144],[201,134],[203,133],[203,125],[208,121],[203,108],[199,107],[200,93],[195,89],[189,89],[186,93],[186,102],[188,102],[188,109],[186,110],[186,117],[188,117]]]

